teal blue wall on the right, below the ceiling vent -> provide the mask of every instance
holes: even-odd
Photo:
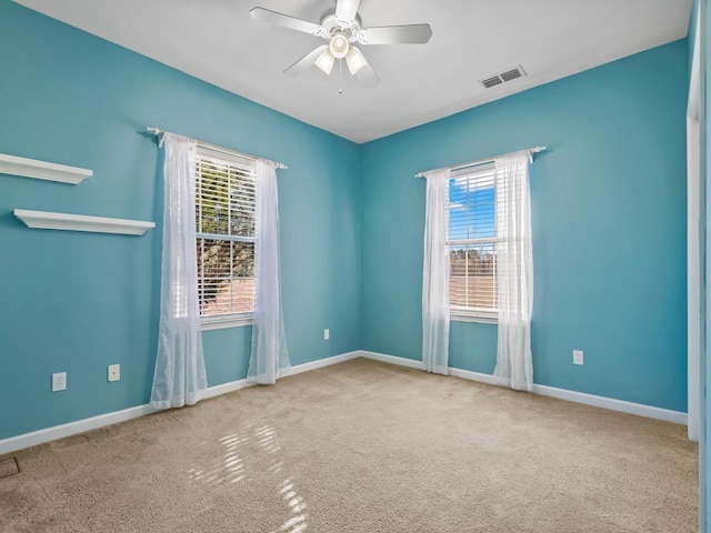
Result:
[[[687,53],[677,41],[363,145],[363,348],[421,356],[413,175],[547,144],[531,170],[534,381],[685,411]],[[491,373],[495,328],[453,323],[451,364]]]

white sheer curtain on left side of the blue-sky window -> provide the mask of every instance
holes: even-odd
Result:
[[[449,169],[425,172],[424,265],[422,272],[422,362],[448,374],[449,361]]]

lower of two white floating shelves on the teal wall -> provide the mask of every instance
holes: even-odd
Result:
[[[148,230],[156,228],[154,222],[143,222],[141,220],[50,213],[47,211],[28,211],[27,209],[16,209],[14,215],[24,222],[28,228],[42,230],[92,231],[97,233],[142,235]]]

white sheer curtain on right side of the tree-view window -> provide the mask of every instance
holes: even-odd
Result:
[[[254,248],[257,298],[252,325],[252,354],[247,381],[273,384],[289,368],[281,312],[279,273],[279,198],[277,163],[257,161],[257,244]]]

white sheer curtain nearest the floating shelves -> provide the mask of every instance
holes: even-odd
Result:
[[[208,388],[196,258],[196,141],[163,133],[160,330],[151,391],[157,409],[192,405]]]

